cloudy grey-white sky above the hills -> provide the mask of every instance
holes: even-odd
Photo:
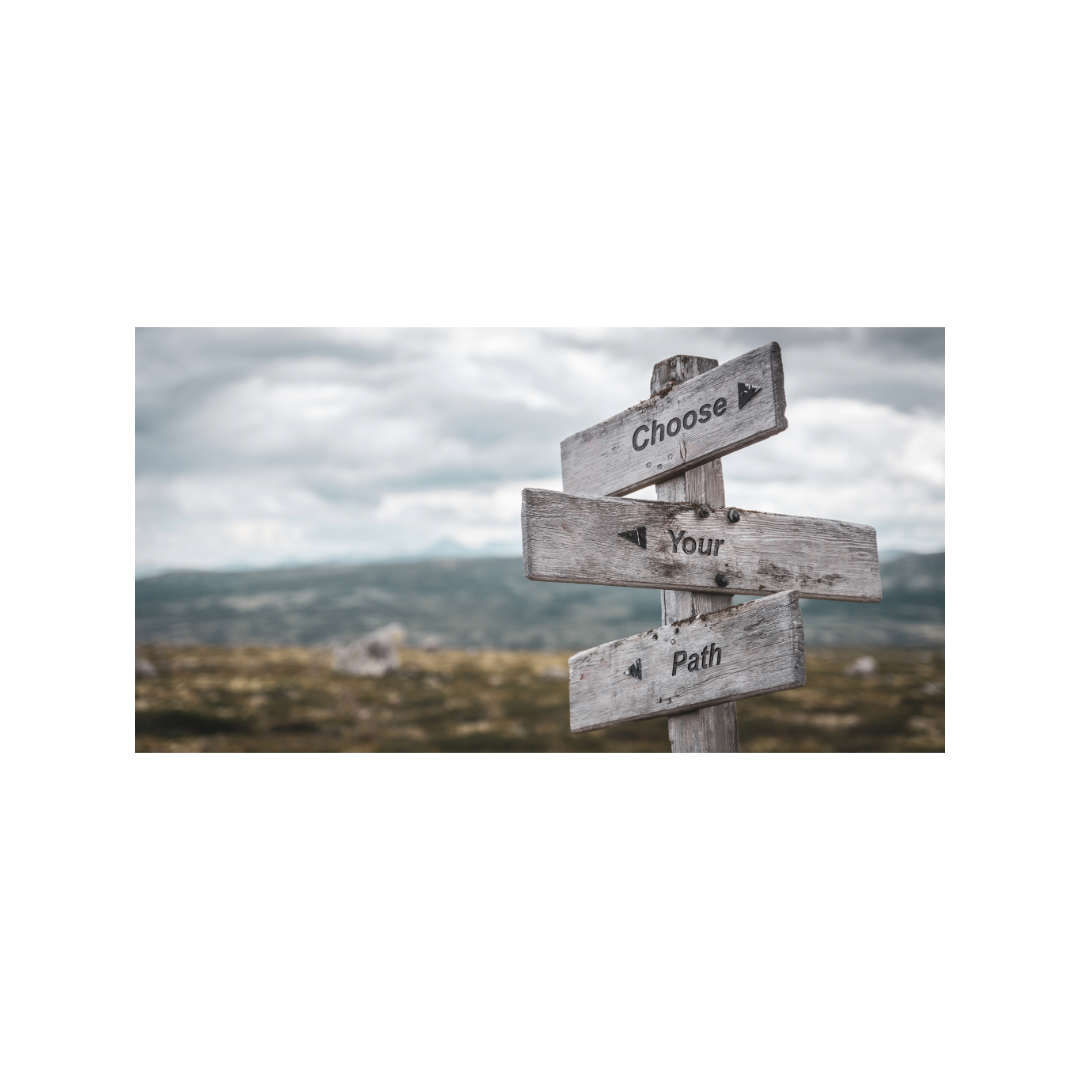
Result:
[[[724,459],[728,502],[944,550],[943,329],[145,329],[136,573],[519,553],[563,438],[665,356],[772,340],[788,429]]]

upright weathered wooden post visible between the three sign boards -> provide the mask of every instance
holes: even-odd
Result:
[[[702,375],[718,363],[706,356],[672,356],[652,368],[650,392],[656,395]],[[666,502],[702,502],[714,509],[725,505],[724,469],[720,458],[689,469],[657,484],[657,498]],[[661,622],[689,619],[731,607],[732,597],[717,593],[687,593],[665,589],[661,595]],[[699,708],[667,720],[673,754],[738,754],[739,721],[733,701]]]

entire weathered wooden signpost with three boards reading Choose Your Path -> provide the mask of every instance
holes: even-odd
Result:
[[[667,716],[673,753],[738,752],[734,702],[806,683],[799,597],[881,599],[877,536],[726,505],[720,457],[787,427],[775,341],[672,356],[650,390],[564,440],[562,492],[522,492],[525,576],[662,590],[663,625],[570,658],[571,731]]]

